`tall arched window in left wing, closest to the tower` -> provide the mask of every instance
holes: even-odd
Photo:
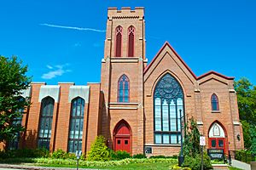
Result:
[[[72,100],[69,122],[68,152],[82,150],[82,138],[84,128],[84,99]]]

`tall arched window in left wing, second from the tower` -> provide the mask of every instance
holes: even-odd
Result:
[[[38,147],[49,150],[49,141],[51,136],[51,125],[54,111],[55,100],[51,97],[42,99],[40,123],[38,130]]]

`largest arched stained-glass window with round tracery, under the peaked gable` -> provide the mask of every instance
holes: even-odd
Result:
[[[183,89],[170,74],[154,89],[154,144],[180,144]]]

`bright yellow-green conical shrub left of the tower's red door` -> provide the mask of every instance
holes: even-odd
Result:
[[[87,156],[88,161],[108,161],[109,150],[106,145],[106,139],[103,136],[96,137],[96,140],[91,144],[90,151]]]

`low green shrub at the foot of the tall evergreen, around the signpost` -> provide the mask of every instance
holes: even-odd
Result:
[[[203,166],[204,169],[212,169],[211,159],[204,152],[203,156]],[[197,154],[195,157],[185,156],[182,167],[190,167],[192,170],[201,169],[201,155]]]

